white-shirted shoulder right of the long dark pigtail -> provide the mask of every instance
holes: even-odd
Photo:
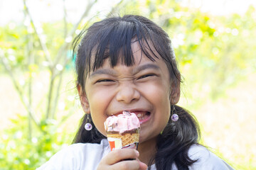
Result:
[[[217,157],[213,152],[210,152],[206,147],[201,145],[192,145],[188,149],[188,156],[193,160],[198,160],[191,166],[193,169],[223,169],[230,170],[233,169],[230,165]]]

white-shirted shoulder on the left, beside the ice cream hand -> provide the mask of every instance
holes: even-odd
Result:
[[[39,169],[96,169],[102,157],[110,152],[107,140],[100,144],[77,143],[61,149]]]

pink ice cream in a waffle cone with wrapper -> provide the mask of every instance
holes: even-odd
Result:
[[[129,111],[112,115],[104,123],[110,149],[134,148],[139,144],[140,124],[137,115]]]

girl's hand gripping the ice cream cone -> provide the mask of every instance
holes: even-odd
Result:
[[[97,170],[146,170],[147,166],[139,161],[139,152],[135,149],[116,149],[102,158]],[[135,159],[135,160],[124,160]]]

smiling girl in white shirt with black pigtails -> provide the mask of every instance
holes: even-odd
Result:
[[[77,88],[85,116],[74,144],[39,169],[232,169],[198,145],[196,120],[176,106],[181,74],[164,30],[128,15],[94,23],[75,46],[80,38]],[[138,151],[110,152],[104,122],[122,111],[139,115]]]

